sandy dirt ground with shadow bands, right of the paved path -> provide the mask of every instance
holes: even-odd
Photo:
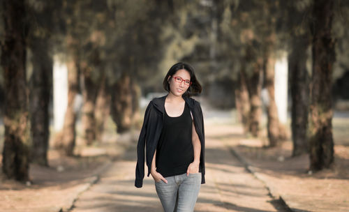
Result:
[[[290,140],[265,148],[263,139],[239,134],[222,139],[265,182],[272,195],[281,197],[293,211],[349,211],[349,146],[335,145],[334,165],[312,173],[308,171],[309,154],[292,158]]]

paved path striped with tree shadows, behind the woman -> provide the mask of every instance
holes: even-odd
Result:
[[[207,183],[201,187],[195,211],[287,211],[218,138],[207,132]],[[145,177],[143,188],[133,185],[135,158],[133,148],[113,162],[101,180],[80,195],[72,211],[162,211],[151,176]]]

